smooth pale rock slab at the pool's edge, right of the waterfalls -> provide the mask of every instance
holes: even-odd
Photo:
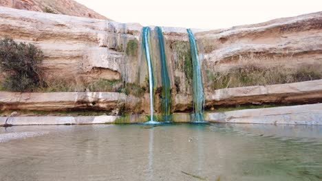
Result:
[[[219,123],[322,125],[322,104],[207,113],[205,119]]]

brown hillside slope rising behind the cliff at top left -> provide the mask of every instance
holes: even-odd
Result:
[[[19,10],[110,20],[73,0],[1,0],[0,5]]]

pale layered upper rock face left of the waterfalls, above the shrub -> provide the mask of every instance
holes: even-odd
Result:
[[[43,50],[46,75],[120,79],[122,38],[138,39],[141,27],[0,7],[0,37],[33,43]],[[120,32],[124,34],[120,34]],[[126,42],[125,42],[126,43]],[[102,69],[100,73],[94,69]],[[59,72],[59,74],[57,74]]]

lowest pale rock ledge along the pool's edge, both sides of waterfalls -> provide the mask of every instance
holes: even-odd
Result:
[[[0,117],[0,126],[8,125],[82,125],[106,123],[142,123],[148,121],[147,115],[89,116],[89,117]],[[258,123],[289,125],[322,125],[322,104],[284,106],[229,112],[207,112],[205,120],[215,123]],[[174,123],[190,122],[190,114],[173,114]]]

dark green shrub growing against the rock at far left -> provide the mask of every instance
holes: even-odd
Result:
[[[2,87],[10,91],[32,91],[41,86],[43,52],[32,44],[0,40],[0,68],[6,73]]]

